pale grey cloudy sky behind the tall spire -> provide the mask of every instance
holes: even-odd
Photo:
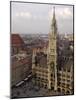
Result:
[[[11,4],[11,32],[48,34],[51,29],[53,6],[58,33],[73,33],[73,6],[18,2]]]

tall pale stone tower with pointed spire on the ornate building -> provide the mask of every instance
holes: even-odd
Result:
[[[57,90],[57,24],[55,18],[55,7],[53,8],[53,18],[49,33],[49,47],[47,54],[48,64],[48,89]]]

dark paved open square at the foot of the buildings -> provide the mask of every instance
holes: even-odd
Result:
[[[11,98],[22,97],[41,97],[41,96],[54,96],[61,95],[55,91],[49,91],[45,88],[40,88],[32,84],[32,82],[24,82],[21,86],[13,87],[11,89]]]

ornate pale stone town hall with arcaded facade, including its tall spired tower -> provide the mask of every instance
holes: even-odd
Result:
[[[51,31],[47,52],[33,50],[32,74],[33,83],[39,87],[59,91],[62,94],[73,94],[73,51],[63,49],[59,53],[55,8],[53,11]]]

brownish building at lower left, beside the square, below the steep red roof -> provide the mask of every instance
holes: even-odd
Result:
[[[11,63],[11,86],[14,86],[24,80],[31,73],[31,56],[23,59],[12,59]]]

